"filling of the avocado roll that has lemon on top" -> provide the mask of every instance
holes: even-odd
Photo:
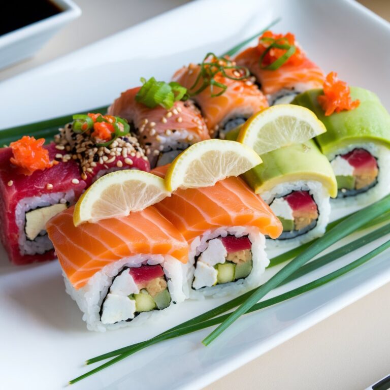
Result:
[[[275,198],[270,207],[283,225],[279,240],[301,236],[317,224],[318,207],[309,191],[293,191]]]

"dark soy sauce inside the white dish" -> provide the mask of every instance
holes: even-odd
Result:
[[[63,11],[50,0],[11,0],[4,8],[0,36]]]

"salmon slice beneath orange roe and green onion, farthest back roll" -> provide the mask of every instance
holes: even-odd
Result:
[[[301,51],[299,63],[285,63],[274,71],[259,66],[261,51],[258,47],[250,47],[236,57],[237,64],[249,69],[249,72],[261,84],[266,95],[272,95],[283,88],[304,92],[308,89],[322,88],[324,75],[317,65]]]

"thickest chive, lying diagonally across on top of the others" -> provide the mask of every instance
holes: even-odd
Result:
[[[375,202],[348,218],[341,221],[337,226],[331,229],[328,233],[320,237],[312,243],[307,249],[300,253],[293,261],[284,266],[277,274],[270,280],[258,287],[255,292],[245,300],[233,313],[229,314],[213,332],[211,332],[203,341],[204,345],[209,345],[215,340],[223,331],[231,326],[242,314],[248,311],[254,304],[261,300],[269,291],[277,287],[288,276],[296,272],[315,255],[322,252],[332,244],[346,237],[348,234],[355,232],[365,223],[371,219],[378,217],[384,211],[390,209],[390,195],[387,195],[382,200]]]

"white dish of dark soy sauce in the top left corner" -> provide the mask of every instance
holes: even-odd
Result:
[[[81,15],[71,0],[20,0],[8,4],[0,26],[0,69],[33,56],[60,28]]]

